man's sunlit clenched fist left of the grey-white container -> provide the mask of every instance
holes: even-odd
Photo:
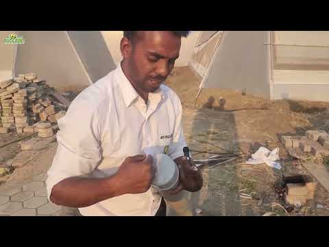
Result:
[[[124,193],[144,193],[153,181],[155,169],[151,155],[136,155],[125,158],[115,176]]]

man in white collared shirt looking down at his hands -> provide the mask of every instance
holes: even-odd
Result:
[[[202,188],[201,172],[183,156],[180,99],[162,84],[187,34],[124,32],[121,65],[82,91],[58,121],[58,150],[47,179],[51,202],[77,207],[82,215],[166,215],[162,196],[151,187],[152,155],[158,153],[180,169],[180,185],[170,193]]]

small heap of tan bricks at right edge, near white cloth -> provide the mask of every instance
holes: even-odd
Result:
[[[316,158],[329,156],[329,134],[324,130],[308,130],[306,136],[283,136],[281,140],[288,153],[296,158],[307,154]]]

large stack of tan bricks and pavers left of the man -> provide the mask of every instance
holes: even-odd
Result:
[[[38,132],[39,137],[51,137],[53,123],[65,115],[62,107],[49,97],[51,88],[36,73],[0,82],[0,133]]]

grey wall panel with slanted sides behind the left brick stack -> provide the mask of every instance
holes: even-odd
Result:
[[[63,31],[20,31],[15,73],[35,72],[60,91],[84,89],[90,80],[69,35]]]

